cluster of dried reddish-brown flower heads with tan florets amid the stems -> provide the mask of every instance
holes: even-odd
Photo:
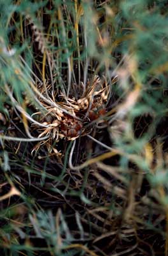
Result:
[[[95,121],[94,123],[102,122],[101,117],[106,114],[108,94],[109,85],[99,76],[95,76],[92,82],[87,83],[85,92],[80,99],[67,97],[61,93],[62,100],[57,102],[57,107],[44,104],[48,113],[41,114],[41,118],[47,127],[38,129],[39,138],[49,136],[49,139],[55,139],[55,141],[62,138],[74,140],[90,133],[92,129],[86,129],[85,126],[92,121]]]

